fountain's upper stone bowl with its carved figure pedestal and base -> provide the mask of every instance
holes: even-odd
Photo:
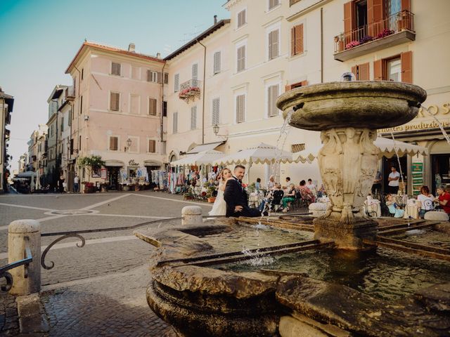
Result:
[[[290,125],[321,131],[319,169],[330,206],[314,220],[317,239],[332,239],[344,249],[361,249],[362,239],[375,239],[377,223],[363,204],[378,167],[373,145],[378,128],[411,121],[426,92],[392,81],[342,81],[297,88],[281,95],[284,116],[295,110]]]

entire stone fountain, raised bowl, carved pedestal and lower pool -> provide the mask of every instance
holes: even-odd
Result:
[[[198,208],[185,211],[183,224],[137,230],[156,247],[150,254],[150,308],[176,336],[449,336],[450,241],[447,247],[392,238],[424,228],[448,236],[448,223],[375,222],[361,210],[377,167],[376,129],[413,119],[425,97],[418,86],[362,81],[281,95],[277,105],[285,115],[295,110],[292,126],[321,131],[319,166],[331,201],[326,215],[314,225],[307,216],[203,222],[192,217]],[[271,229],[260,230],[262,223]],[[243,249],[250,244],[253,249]],[[380,255],[376,246],[394,253]],[[411,272],[418,255],[420,265]],[[246,261],[274,257],[278,267],[239,269]],[[383,267],[386,260],[392,263]],[[345,272],[333,272],[340,261]],[[308,273],[298,266],[309,266]],[[323,270],[332,277],[324,278]],[[423,273],[426,286],[409,277]],[[342,274],[349,277],[338,282]],[[392,293],[396,278],[397,296],[377,293],[380,284]],[[411,283],[416,288],[404,293]]]

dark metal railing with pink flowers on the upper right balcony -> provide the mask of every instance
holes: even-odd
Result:
[[[339,34],[334,37],[335,53],[383,39],[403,30],[414,32],[414,14],[410,11],[400,11],[370,25]]]

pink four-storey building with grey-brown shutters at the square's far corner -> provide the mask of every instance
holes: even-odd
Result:
[[[139,166],[159,169],[165,154],[162,86],[165,61],[159,57],[85,41],[66,74],[73,79],[68,179],[100,181],[118,187],[120,169],[133,175]],[[165,82],[165,83],[164,83]],[[77,159],[92,154],[106,171],[86,176]]]

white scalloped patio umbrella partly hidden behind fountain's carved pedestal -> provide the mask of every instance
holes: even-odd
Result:
[[[422,146],[408,144],[404,142],[399,142],[398,140],[392,140],[388,138],[383,137],[377,137],[377,139],[374,142],[375,146],[380,149],[380,153],[378,154],[378,158],[382,158],[383,156],[387,158],[394,157],[395,150],[394,147],[397,148],[397,153],[399,154],[399,157],[403,157],[405,154],[409,154],[413,156],[414,154],[427,154],[427,149]],[[319,150],[321,150],[322,145],[311,147],[310,149],[303,150],[300,152],[297,152],[293,155],[293,161],[298,163],[311,163],[314,161],[314,159],[317,158],[317,155],[319,154]]]

